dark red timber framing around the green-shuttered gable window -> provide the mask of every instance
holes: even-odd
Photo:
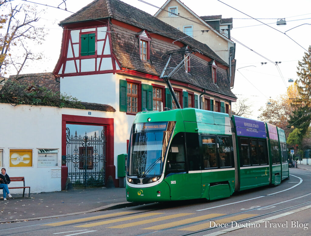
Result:
[[[107,33],[105,35],[104,39],[98,39],[98,28],[100,27],[107,27]],[[84,31],[85,29],[95,29],[94,31]],[[71,37],[71,31],[72,30],[79,30],[79,42],[72,42],[72,37]],[[70,27],[64,26],[64,32],[63,32],[63,41],[62,41],[62,49],[61,49],[61,55],[60,58],[58,59],[58,63],[55,66],[55,69],[53,71],[54,74],[58,74],[60,77],[67,77],[67,76],[77,76],[77,75],[91,75],[91,74],[103,74],[103,73],[115,73],[117,72],[117,66],[120,67],[120,65],[116,65],[116,58],[114,54],[112,54],[112,48],[111,44],[111,38],[110,38],[110,33],[109,31],[109,25],[108,24],[102,24],[102,25],[96,25],[96,26],[73,26],[71,25]],[[81,56],[81,35],[84,34],[92,34],[95,33],[95,54],[94,55],[84,55]],[[107,40],[108,39],[108,40]],[[98,52],[97,48],[97,43],[103,41],[103,48],[100,52]],[[110,54],[104,54],[104,49],[106,47],[106,43],[109,43],[109,48],[110,48]],[[78,45],[79,47],[79,53],[78,55],[75,54],[74,47],[75,45]],[[68,55],[68,48],[71,48],[72,55],[73,57],[67,58]],[[94,70],[93,71],[88,71],[88,72],[81,72],[81,60],[82,59],[89,59],[89,58],[94,58]],[[100,61],[98,62],[98,58],[100,58]],[[100,70],[101,64],[103,63],[103,58],[110,58],[111,63],[112,63],[112,69],[109,70]],[[66,70],[66,64],[69,61],[74,62],[74,67],[75,67],[75,72],[71,73],[65,73]],[[79,63],[77,63],[77,61]],[[118,62],[117,62],[118,63]],[[60,71],[61,70],[61,71]]]

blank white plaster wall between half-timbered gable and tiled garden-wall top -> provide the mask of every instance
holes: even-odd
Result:
[[[71,76],[60,79],[60,90],[80,101],[115,107],[116,82],[113,73]]]

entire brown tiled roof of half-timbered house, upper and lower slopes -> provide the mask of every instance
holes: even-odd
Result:
[[[106,7],[104,7],[105,4]],[[98,12],[96,10],[98,10]],[[61,21],[60,25],[71,24],[73,22],[91,21],[93,19],[103,19],[109,16],[115,20],[136,26],[142,30],[147,30],[151,33],[151,38],[152,33],[154,32],[173,40],[179,40],[184,45],[189,45],[190,48],[197,49],[207,57],[215,59],[218,64],[227,64],[206,44],[203,44],[192,37],[187,37],[183,32],[176,30],[174,27],[164,23],[156,17],[119,0],[95,0],[86,7],[83,7],[76,14]],[[121,64],[121,67],[160,76],[168,59],[168,55],[165,54],[165,52],[180,49],[177,45],[152,38],[150,41],[150,63],[143,62],[140,59],[139,47],[137,44],[137,32],[113,25],[112,23],[109,24],[111,30],[112,50],[116,55],[118,62]],[[180,62],[182,59],[183,55],[174,55],[173,57],[173,60],[176,62]],[[229,78],[225,69],[220,67],[217,69],[217,85],[215,85],[211,79],[211,67],[206,60],[193,56],[190,64],[192,67],[191,73],[185,73],[183,69],[180,69],[172,79],[203,89],[206,88],[207,91],[235,98],[235,95],[230,90]]]

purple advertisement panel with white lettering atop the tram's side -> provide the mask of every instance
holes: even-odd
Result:
[[[266,138],[265,124],[259,120],[251,120],[234,116],[236,133],[238,136]]]

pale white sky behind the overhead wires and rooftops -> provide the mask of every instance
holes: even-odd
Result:
[[[15,0],[12,4],[22,2]],[[33,0],[33,2],[57,7],[63,0]],[[63,32],[62,28],[58,26],[59,21],[90,2],[92,1],[66,0],[66,7],[70,12],[38,5],[38,9],[44,9],[38,26],[49,29],[49,35],[43,45],[30,46],[33,47],[33,51],[44,51],[45,59],[40,63],[31,63],[22,73],[53,71],[59,57]],[[151,15],[158,11],[158,8],[138,0],[123,0],[123,2]],[[145,2],[161,7],[166,1],[145,0]],[[285,93],[286,87],[290,85],[288,79],[295,80],[297,78],[298,60],[302,60],[305,50],[308,50],[311,44],[311,25],[309,25],[311,24],[311,1],[183,0],[182,2],[198,16],[222,15],[222,18],[233,18],[231,37],[236,43],[236,68],[240,69],[236,71],[232,91],[238,98],[248,98],[248,102],[253,106],[251,118],[257,119],[260,114],[258,109],[261,106],[266,106],[269,97],[275,99],[278,95]],[[27,3],[33,4],[29,1]],[[64,3],[59,7],[64,9]],[[268,26],[249,16],[268,24]],[[277,26],[278,18],[285,18],[287,25]],[[296,28],[292,29],[294,27]],[[285,31],[288,31],[286,35],[291,39],[284,34]],[[269,60],[281,63],[277,67]],[[262,62],[267,62],[267,64],[262,65]]]

